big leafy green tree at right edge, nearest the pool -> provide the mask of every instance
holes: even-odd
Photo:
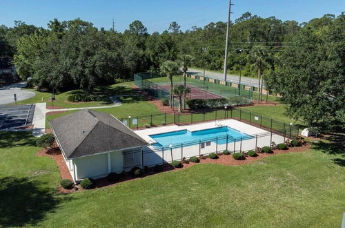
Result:
[[[279,53],[266,86],[281,96],[287,113],[313,129],[345,129],[345,15],[313,19]]]

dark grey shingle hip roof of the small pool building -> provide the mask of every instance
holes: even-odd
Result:
[[[88,109],[50,120],[50,126],[66,158],[148,144],[112,115]]]

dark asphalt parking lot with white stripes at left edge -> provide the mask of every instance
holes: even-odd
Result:
[[[0,131],[30,126],[33,116],[34,104],[0,106]]]

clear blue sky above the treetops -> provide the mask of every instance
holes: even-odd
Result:
[[[275,16],[282,21],[308,22],[315,17],[345,11],[345,0],[233,0],[231,19],[244,12],[260,17]],[[97,28],[123,32],[132,21],[139,20],[148,32],[163,32],[177,21],[181,30],[204,27],[210,22],[226,21],[228,0],[0,0],[0,24],[12,27],[14,20],[47,27],[60,21],[81,18]]]

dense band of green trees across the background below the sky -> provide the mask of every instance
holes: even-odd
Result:
[[[308,125],[344,123],[344,28],[344,13],[299,24],[246,12],[230,23],[228,68],[262,77],[288,104],[288,113]],[[12,57],[20,77],[30,77],[39,89],[92,93],[95,86],[166,68],[164,62],[183,55],[193,57],[190,66],[222,70],[225,37],[222,21],[184,32],[172,22],[152,34],[141,21],[124,32],[81,19],[54,19],[48,28],[15,21],[13,28],[0,26],[0,57]]]

